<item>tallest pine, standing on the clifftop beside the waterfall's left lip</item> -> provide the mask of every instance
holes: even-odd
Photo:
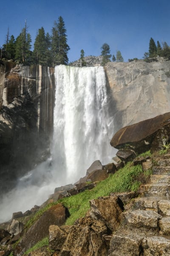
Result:
[[[67,35],[63,18],[58,18],[58,23],[54,21],[52,28],[51,52],[52,65],[68,64],[68,50],[70,47],[67,44]]]

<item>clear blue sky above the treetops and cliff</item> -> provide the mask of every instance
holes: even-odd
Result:
[[[32,45],[42,26],[51,33],[54,20],[62,16],[67,29],[69,62],[101,54],[109,44],[111,54],[122,52],[125,61],[142,58],[149,40],[170,45],[170,0],[8,0],[0,4],[0,46],[10,35],[20,34],[27,19]]]

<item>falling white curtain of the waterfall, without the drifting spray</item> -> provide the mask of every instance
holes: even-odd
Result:
[[[66,182],[75,182],[94,160],[106,164],[113,156],[105,72],[103,67],[60,65],[55,77],[52,155]]]

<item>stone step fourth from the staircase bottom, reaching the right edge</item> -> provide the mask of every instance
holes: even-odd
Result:
[[[170,196],[170,183],[149,183],[142,185],[144,196]]]

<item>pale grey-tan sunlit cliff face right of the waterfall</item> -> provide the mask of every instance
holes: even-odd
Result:
[[[115,130],[170,111],[170,61],[109,62]]]

